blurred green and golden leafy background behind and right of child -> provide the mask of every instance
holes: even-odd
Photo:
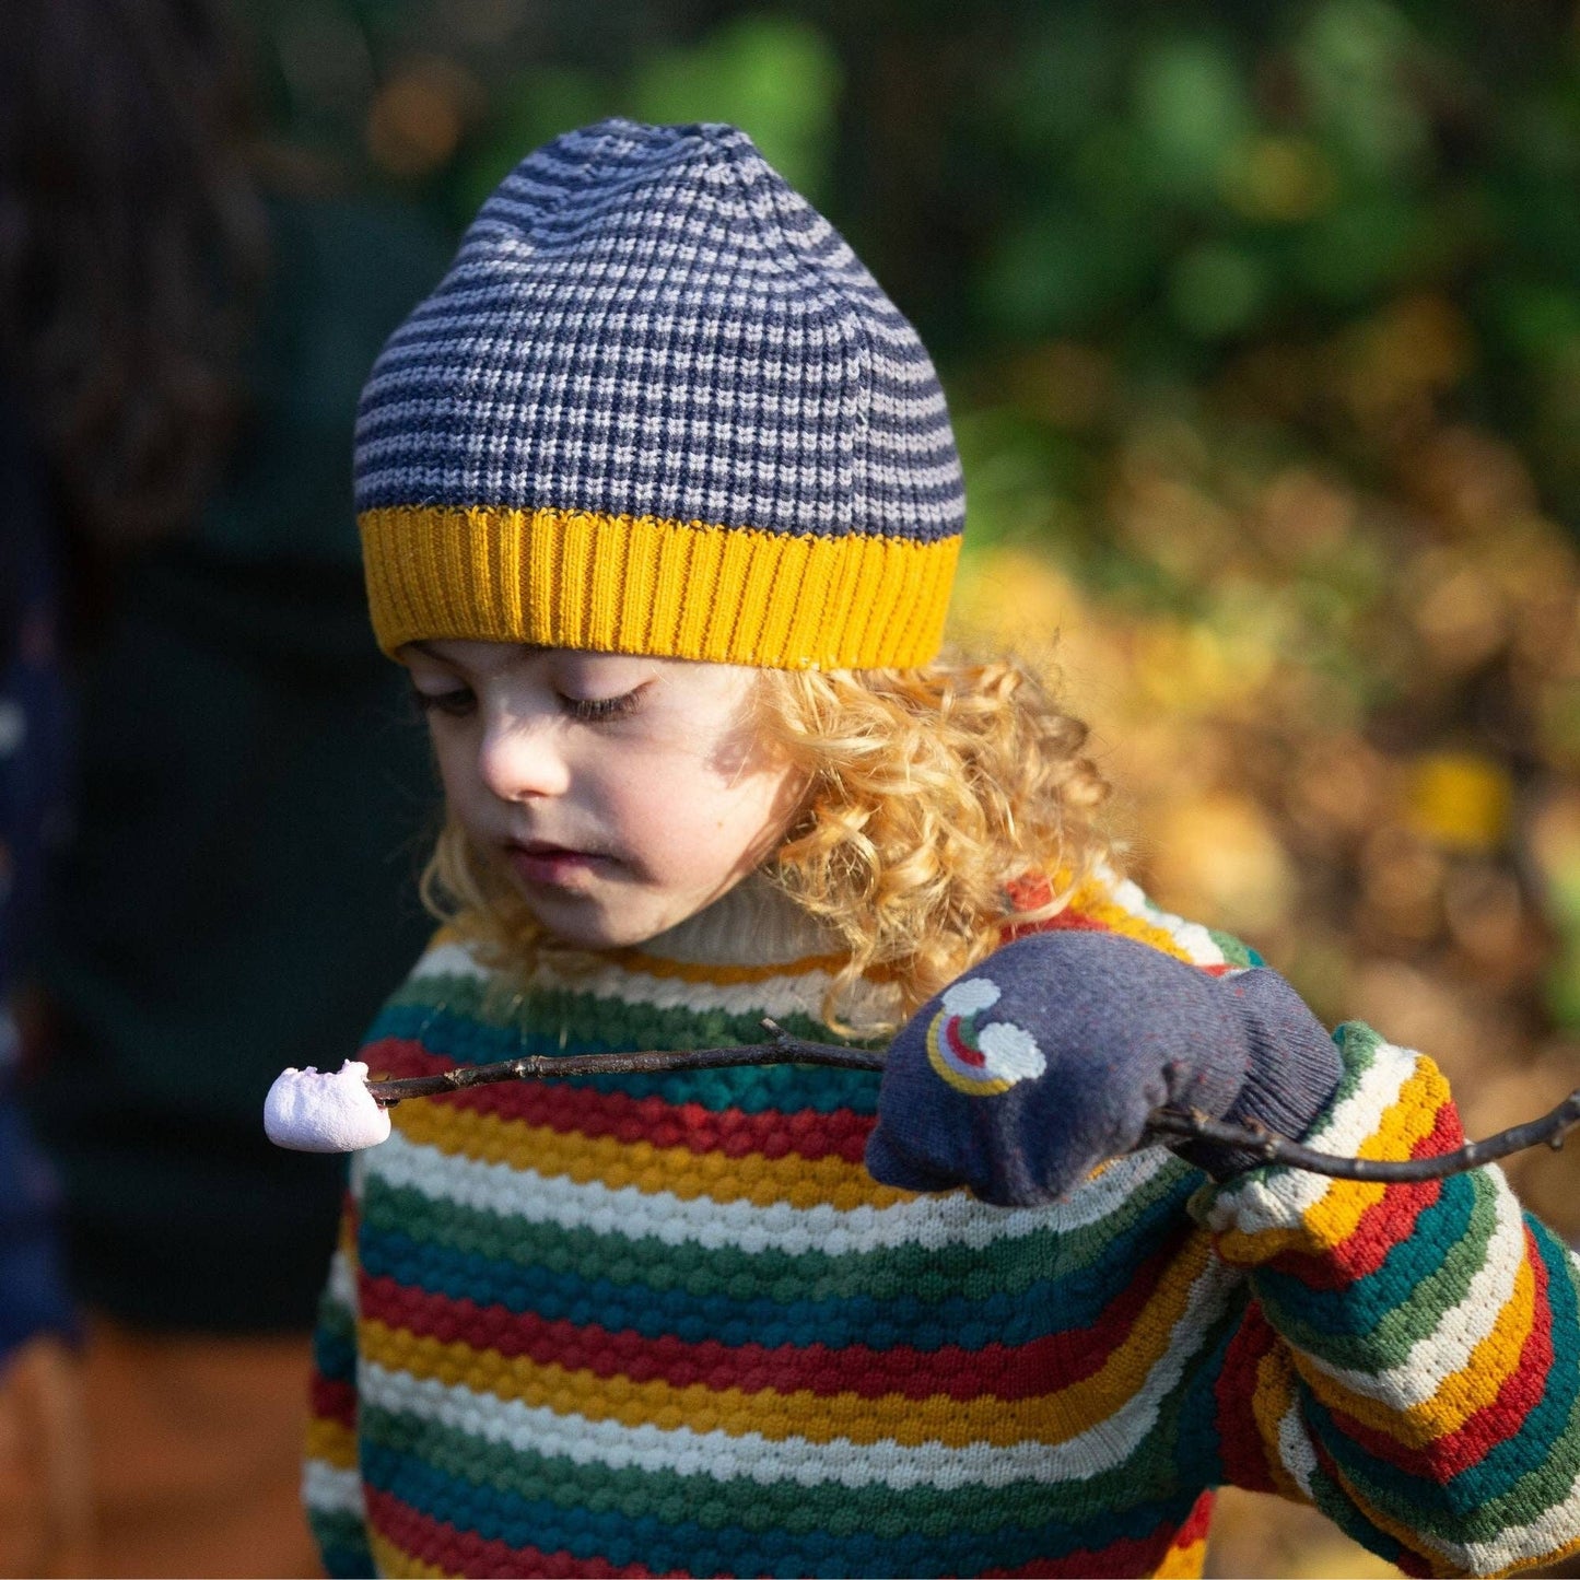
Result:
[[[253,0],[270,136],[452,228],[732,118],[945,371],[957,630],[1049,654],[1158,897],[1474,1130],[1580,1082],[1580,35],[1531,0]],[[1514,1172],[1580,1234],[1564,1158]]]

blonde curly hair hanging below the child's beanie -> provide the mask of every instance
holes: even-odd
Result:
[[[763,871],[847,951],[823,1002],[836,1032],[893,1032],[845,1019],[863,978],[894,983],[910,1016],[1006,929],[1055,915],[1111,855],[1087,727],[1016,660],[763,670],[755,702],[766,744],[806,787]],[[564,953],[453,820],[422,897],[496,967]]]

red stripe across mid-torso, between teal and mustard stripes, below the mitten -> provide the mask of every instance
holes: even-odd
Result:
[[[507,1359],[525,1356],[536,1365],[586,1370],[632,1382],[746,1392],[776,1389],[782,1394],[806,1389],[861,1398],[899,1394],[918,1400],[939,1395],[967,1400],[992,1394],[1019,1400],[1036,1398],[1095,1373],[1128,1337],[1147,1296],[1172,1261],[1172,1250],[1166,1247],[1141,1264],[1090,1327],[1048,1334],[1019,1346],[991,1343],[981,1349],[959,1345],[831,1349],[828,1345],[722,1345],[716,1338],[687,1343],[673,1334],[645,1338],[630,1329],[611,1332],[591,1322],[550,1321],[531,1311],[479,1305],[468,1297],[453,1300],[392,1278],[363,1278],[360,1308],[363,1318],[441,1343],[465,1343]]]

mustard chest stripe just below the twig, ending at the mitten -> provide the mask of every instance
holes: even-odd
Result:
[[[419,1146],[477,1163],[509,1163],[515,1169],[623,1190],[673,1191],[683,1201],[749,1201],[755,1207],[891,1207],[912,1191],[878,1185],[860,1163],[844,1158],[768,1158],[690,1147],[654,1147],[616,1136],[581,1136],[548,1125],[528,1125],[498,1114],[479,1114],[447,1103],[401,1103],[390,1112],[395,1128]]]

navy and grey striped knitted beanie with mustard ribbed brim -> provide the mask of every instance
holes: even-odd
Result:
[[[934,657],[964,521],[943,392],[733,126],[605,120],[488,199],[362,392],[379,646],[771,668]]]

